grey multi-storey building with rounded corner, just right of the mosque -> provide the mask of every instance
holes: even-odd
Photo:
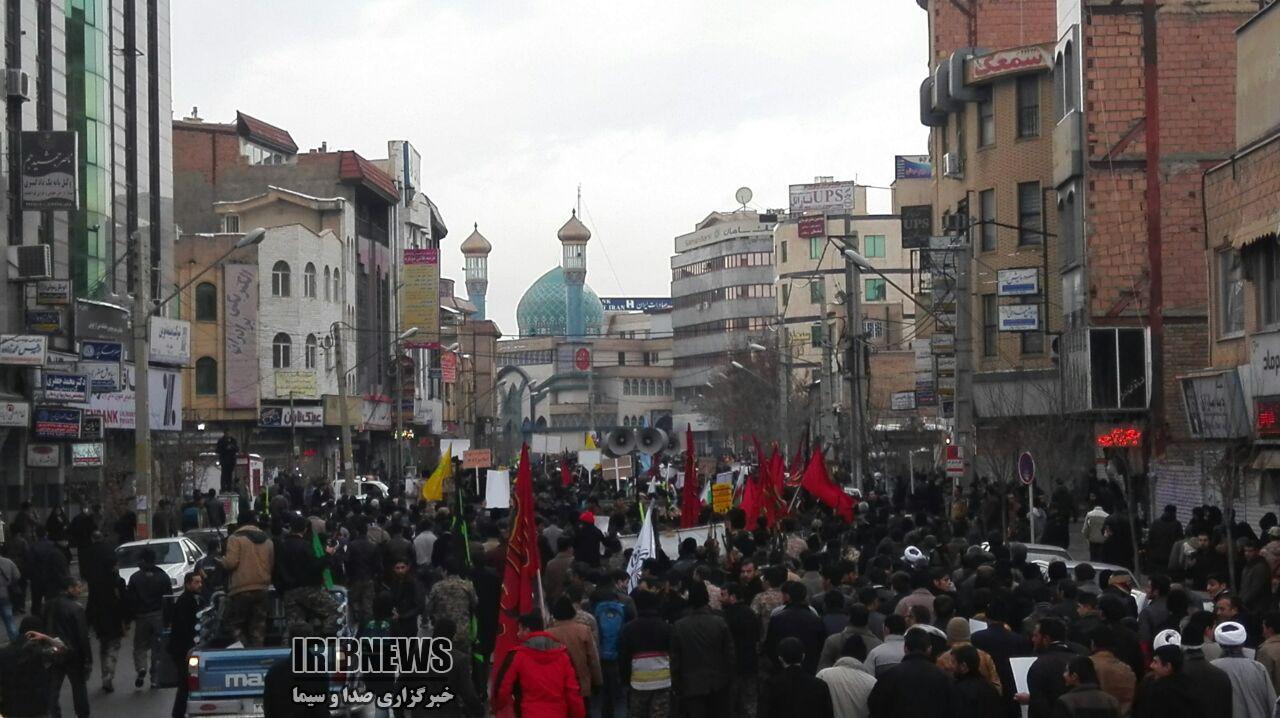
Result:
[[[671,312],[675,389],[673,425],[692,426],[694,438],[719,445],[726,431],[695,408],[698,393],[730,367],[751,342],[767,339],[776,324],[773,229],[778,218],[753,210],[716,211],[694,232],[675,239],[671,257]]]

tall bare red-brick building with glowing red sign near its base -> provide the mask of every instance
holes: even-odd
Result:
[[[1233,32],[1257,8],[1059,3],[1064,397],[1092,420],[1097,458],[1139,477],[1139,499],[1185,511],[1199,503],[1213,448],[1192,436],[1178,398],[1179,378],[1208,358],[1201,183],[1234,147]],[[1105,447],[1115,429],[1135,430],[1138,445]]]

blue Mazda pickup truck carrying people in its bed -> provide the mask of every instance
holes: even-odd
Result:
[[[338,635],[353,635],[349,628],[347,590],[330,589],[340,616]],[[229,631],[223,627],[223,613],[229,602],[223,591],[212,595],[209,607],[198,614],[196,648],[187,654],[187,715],[251,717],[262,715],[262,694],[266,672],[282,658],[288,658],[289,645],[284,631],[284,602],[271,591],[264,648],[228,648]],[[355,687],[357,676],[334,674],[329,690],[342,695],[343,687]],[[349,715],[353,706],[339,706],[335,715]]]

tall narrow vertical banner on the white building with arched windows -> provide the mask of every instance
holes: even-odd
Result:
[[[227,333],[223,387],[227,408],[257,408],[257,266],[229,264],[223,269]]]

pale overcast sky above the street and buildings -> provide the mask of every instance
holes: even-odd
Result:
[[[927,150],[910,0],[175,0],[172,19],[175,116],[242,110],[303,151],[371,159],[412,142],[449,227],[443,273],[465,293],[457,247],[479,223],[507,335],[579,183],[588,284],[667,296],[672,239],[739,187],[782,207],[787,184],[887,186],[893,155]]]

